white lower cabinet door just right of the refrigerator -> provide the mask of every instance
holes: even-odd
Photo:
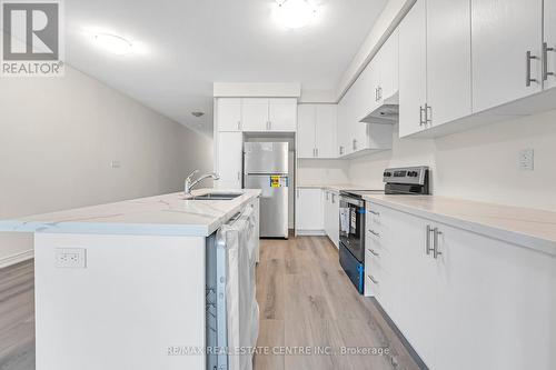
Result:
[[[297,189],[296,191],[296,230],[322,231],[324,204],[321,189]]]

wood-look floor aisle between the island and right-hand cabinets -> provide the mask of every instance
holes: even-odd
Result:
[[[419,369],[373,300],[354,288],[326,237],[261,240],[257,301],[256,370]],[[299,347],[311,350],[295,353]],[[342,347],[388,354],[346,356]],[[282,354],[287,349],[294,354]]]

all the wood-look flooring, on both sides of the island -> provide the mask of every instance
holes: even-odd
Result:
[[[256,354],[256,370],[419,369],[374,302],[351,286],[328,238],[261,240],[260,251],[257,346],[269,354]],[[0,370],[34,369],[33,311],[32,261],[1,269]],[[389,352],[345,356],[342,347]],[[281,354],[287,350],[297,354]]]

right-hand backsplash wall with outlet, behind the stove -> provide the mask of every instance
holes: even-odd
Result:
[[[437,196],[556,211],[556,111],[434,140],[395,131],[394,150],[350,161],[353,183],[381,186],[386,167],[428,164]],[[534,171],[518,168],[525,148],[535,150]]]

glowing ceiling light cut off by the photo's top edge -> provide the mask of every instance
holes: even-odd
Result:
[[[274,18],[286,28],[297,29],[312,22],[317,10],[312,0],[277,0]]]

